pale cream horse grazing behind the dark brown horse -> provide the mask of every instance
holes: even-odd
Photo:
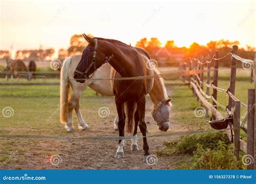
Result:
[[[82,54],[73,55],[63,62],[60,71],[60,122],[65,124],[65,129],[68,132],[74,130],[72,125],[72,111],[75,109],[78,118],[78,128],[80,130],[89,129],[80,112],[80,97],[83,91],[89,86],[97,93],[105,96],[114,96],[110,80],[87,80],[84,83],[76,82],[73,78],[74,71],[82,57]],[[109,63],[105,63],[98,68],[91,79],[110,79],[113,68]],[[157,69],[154,69],[154,74],[159,74]],[[70,95],[70,86],[72,95]],[[163,79],[159,76],[154,77],[153,88],[149,93],[154,107],[151,115],[157,122],[158,129],[167,131],[169,129],[169,115],[171,107],[171,99],[167,96],[166,88]],[[118,116],[114,119],[114,130],[118,130]]]

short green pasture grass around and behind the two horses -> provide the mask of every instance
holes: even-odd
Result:
[[[227,89],[229,86],[230,70],[220,70],[220,80],[218,86],[220,88]],[[247,104],[247,90],[254,88],[250,83],[250,71],[238,70],[237,83],[235,89],[235,96]],[[4,79],[0,79],[0,82],[6,82]],[[40,79],[36,81],[26,81],[25,79],[15,79],[10,82],[59,82],[59,80],[47,80]],[[176,80],[166,80],[166,83],[180,83]],[[212,82],[212,80],[211,80]],[[194,109],[200,107],[200,102],[196,101],[196,97],[192,95],[192,90],[188,86],[171,86],[168,87],[172,97],[173,110],[172,121],[179,125],[180,131],[189,130],[210,130],[211,127],[208,124],[209,118],[196,117],[194,115]],[[204,88],[206,91],[206,89]],[[212,90],[210,91],[212,94]],[[69,136],[66,133],[63,125],[59,123],[58,112],[52,117],[51,121],[47,121],[47,118],[57,111],[59,107],[59,86],[0,86],[0,110],[4,107],[11,107],[14,109],[14,116],[5,118],[0,116],[0,135],[47,135],[47,136]],[[109,104],[111,97],[96,97],[95,91],[87,88],[83,93],[83,100],[81,102],[82,114],[90,114],[85,117],[85,121],[95,121],[97,111],[99,107],[107,105],[111,111],[116,113],[114,103]],[[221,104],[227,105],[228,95],[218,92],[218,101]],[[90,107],[90,108],[87,108]],[[224,117],[227,116],[224,110],[218,108]],[[244,108],[241,108],[241,116],[246,112]],[[115,113],[113,113],[114,118]],[[75,115],[75,112],[74,112]],[[73,122],[77,122],[76,116],[74,116]],[[111,114],[112,115],[112,114]],[[211,115],[211,114],[210,114]],[[172,123],[172,122],[171,122]],[[170,130],[171,131],[171,130]],[[246,134],[241,131],[241,136],[246,139]],[[37,140],[31,140],[37,141]],[[26,160],[26,154],[23,153],[24,149],[21,146],[25,145],[24,140],[10,140],[6,144],[5,140],[0,141],[0,163],[2,160],[6,160],[11,151],[18,150],[19,161]],[[35,145],[35,144],[33,144]],[[170,151],[170,150],[169,150]],[[35,153],[37,154],[37,153]],[[50,153],[49,153],[50,154]],[[183,165],[191,155],[181,154],[177,158],[178,164]],[[14,162],[17,160],[13,160]]]

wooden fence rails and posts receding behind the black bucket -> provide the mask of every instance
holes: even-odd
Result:
[[[232,47],[232,54],[237,55],[238,52],[238,46],[234,45]],[[193,73],[189,77],[189,82],[193,91],[193,95],[196,96],[201,106],[206,107],[206,114],[205,117],[208,118],[208,111],[212,113],[212,118],[216,120],[224,119],[224,117],[220,114],[217,107],[221,107],[224,110],[227,111],[229,115],[233,116],[233,125],[229,126],[230,129],[226,129],[225,132],[230,139],[230,141],[234,144],[234,155],[237,159],[239,159],[239,152],[240,150],[247,153],[246,156],[252,157],[254,160],[256,160],[256,121],[254,117],[256,117],[256,111],[254,111],[255,106],[255,100],[256,100],[256,93],[255,89],[248,89],[248,105],[240,102],[237,97],[235,97],[235,77],[237,73],[237,59],[234,58],[234,56],[231,54],[231,74],[230,74],[230,86],[228,89],[221,89],[218,88],[218,70],[219,70],[219,61],[221,58],[219,58],[219,51],[215,51],[214,57],[211,60],[207,60],[207,62],[199,62],[197,67],[194,68],[192,60],[190,60],[188,63],[190,64],[190,70],[196,69],[196,70],[204,70],[205,64],[207,64],[207,80],[206,83],[204,83],[204,75],[198,72]],[[238,58],[239,59],[239,58]],[[240,60],[240,59],[239,59]],[[211,61],[214,61],[214,71],[213,71],[213,82],[210,83],[211,79]],[[254,58],[254,65],[256,63],[256,59]],[[201,66],[200,66],[201,65]],[[183,70],[186,70],[186,67],[181,67]],[[255,72],[255,70],[254,70]],[[256,72],[255,72],[256,74]],[[256,76],[254,74],[254,77]],[[256,86],[256,82],[254,79],[254,83]],[[203,86],[206,86],[206,93],[204,92]],[[211,96],[209,96],[210,88],[213,88],[213,93]],[[217,101],[218,97],[218,91],[227,93],[228,94],[228,105],[225,107],[225,105],[220,104]],[[212,104],[208,101],[208,99],[212,99]],[[242,126],[240,121],[240,107],[247,109],[247,129],[245,126]],[[244,123],[244,122],[243,122]],[[240,129],[244,130],[247,133],[247,141],[244,141],[240,137]],[[232,133],[233,131],[233,133]],[[250,165],[247,165],[247,169],[256,169],[256,163],[251,163]]]

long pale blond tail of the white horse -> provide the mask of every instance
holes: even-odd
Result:
[[[68,119],[68,103],[70,99],[69,66],[71,61],[72,61],[72,57],[67,58],[63,62],[62,69],[60,70],[59,119],[61,123],[66,123]]]

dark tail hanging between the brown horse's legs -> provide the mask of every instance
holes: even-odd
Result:
[[[131,133],[133,130],[133,116],[136,109],[135,101],[128,101],[126,104],[126,115],[127,115],[127,132]]]

